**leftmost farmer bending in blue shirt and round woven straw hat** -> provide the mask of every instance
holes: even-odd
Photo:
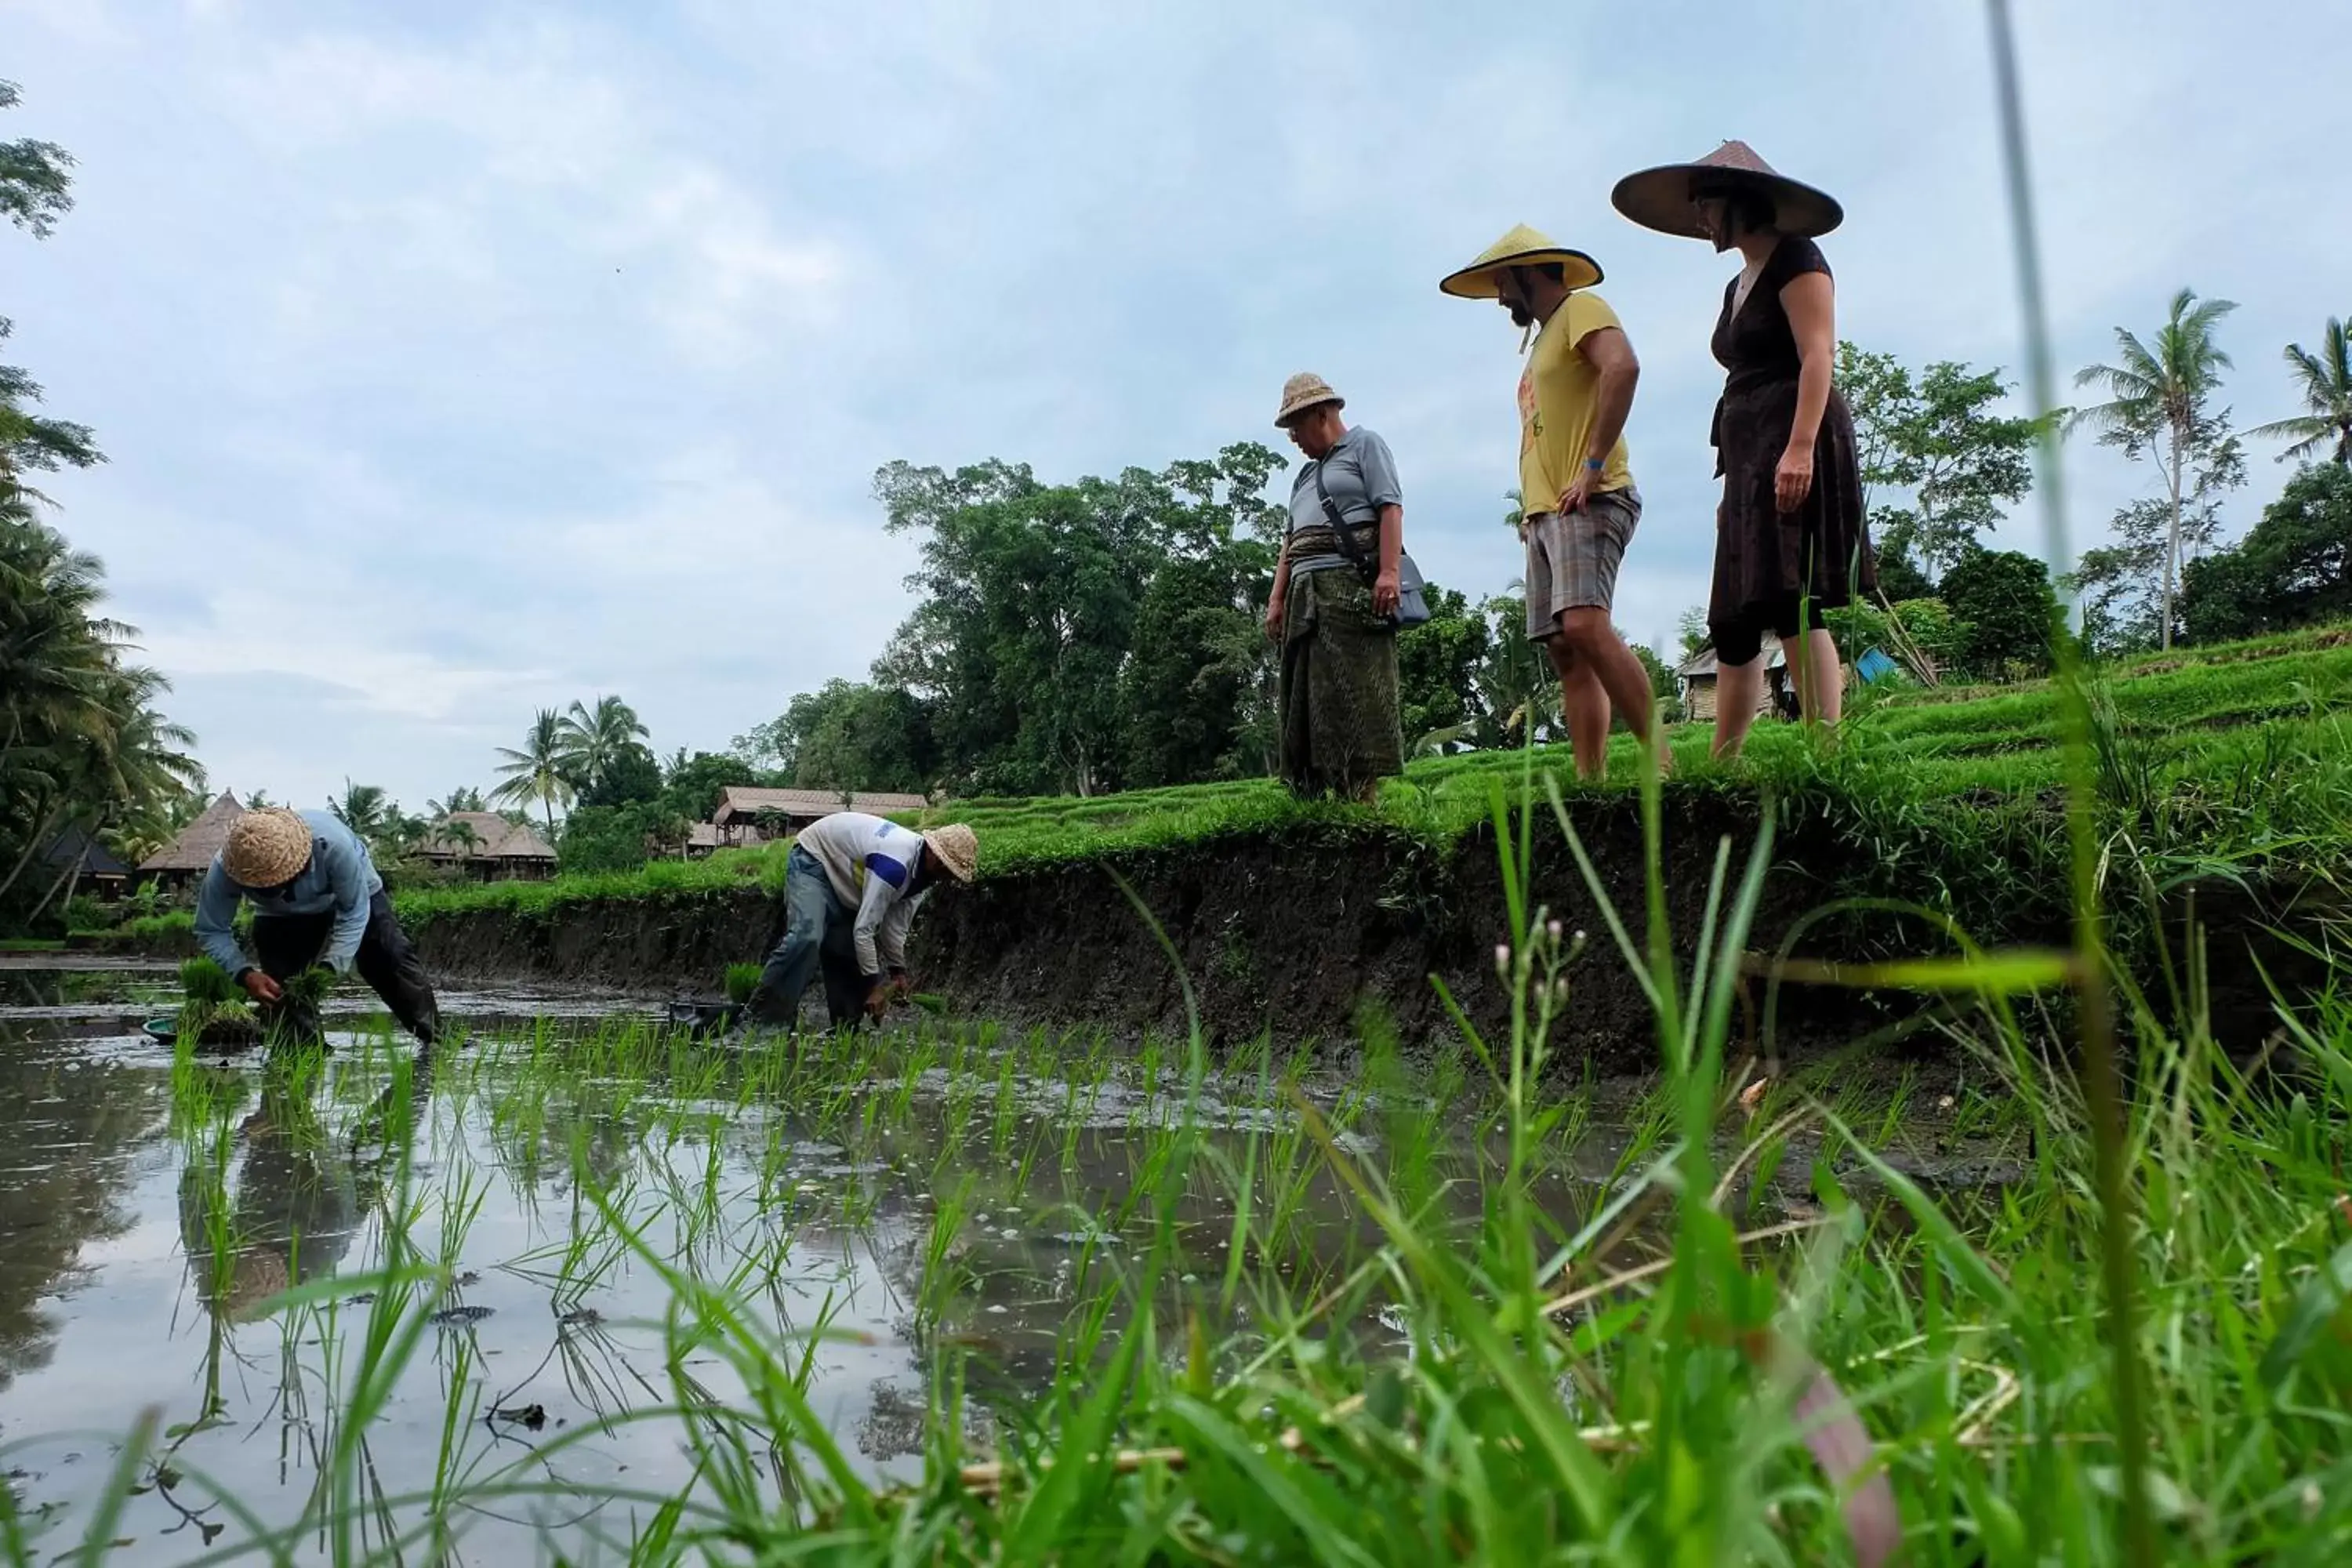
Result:
[[[230,931],[240,898],[254,905],[259,964]],[[433,983],[393,919],[367,844],[327,811],[261,806],[230,823],[228,844],[212,858],[195,898],[195,940],[238,978],[263,1027],[285,1023],[303,1039],[318,1037],[318,1011],[289,1001],[280,980],[325,964],[339,976],[358,966],[393,1018],[423,1044],[440,1032]]]

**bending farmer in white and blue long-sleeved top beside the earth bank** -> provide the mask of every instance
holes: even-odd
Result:
[[[856,1023],[858,1009],[880,1020],[891,994],[915,990],[906,973],[906,929],[915,905],[955,877],[971,882],[981,844],[962,823],[915,832],[863,811],[835,811],[793,839],[783,870],[783,940],[736,1034],[755,1027],[790,1030],[800,994],[823,966],[833,1027]]]

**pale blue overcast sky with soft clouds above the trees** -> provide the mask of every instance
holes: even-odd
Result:
[[[2293,414],[2279,348],[2352,313],[2343,0],[2018,9],[2060,364],[2190,284],[2241,301],[2239,423]],[[1724,136],[1844,200],[1844,336],[2020,364],[1976,0],[0,0],[0,139],[80,158],[54,240],[0,233],[9,360],[111,456],[56,522],[214,785],[296,804],[487,785],[600,691],[724,748],[906,614],[880,463],[1275,442],[1294,369],[1501,590],[1517,331],[1435,284],[1522,221],[1642,355],[1618,621],[1670,639],[1731,268],[1609,186]],[[2067,477],[2077,541],[2147,484]]]

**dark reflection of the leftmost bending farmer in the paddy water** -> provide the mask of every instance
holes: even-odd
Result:
[[[306,1081],[266,1074],[261,1105],[238,1124],[230,1152],[181,1171],[179,1234],[198,1300],[242,1324],[280,1291],[334,1272],[350,1251],[360,1201],[353,1161],[327,1147]],[[214,1253],[214,1229],[228,1237],[226,1255]]]

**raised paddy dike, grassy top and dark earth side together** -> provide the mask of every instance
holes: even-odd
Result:
[[[2154,978],[2157,933],[2194,917],[2227,957],[2211,1013],[2232,1046],[2272,1027],[2267,978],[2317,978],[2277,938],[2333,910],[2352,825],[2352,630],[2331,628],[2107,670],[2096,689],[2100,889],[2114,943]],[[1738,769],[1705,757],[1705,726],[1675,731],[1661,856],[1677,947],[1691,952],[1708,867],[1773,827],[1757,966],[1783,947],[1820,961],[2063,940],[2067,837],[2058,696],[2049,684],[1865,698],[1835,755],[1766,724]],[[1454,1037],[1435,973],[1482,1027],[1508,1020],[1491,954],[1508,940],[1496,811],[1531,823],[1534,896],[1597,936],[1595,900],[1562,823],[1602,889],[1639,900],[1637,762],[1618,736],[1611,778],[1581,785],[1564,748],[1418,759],[1378,809],[1291,799],[1272,780],[1091,799],[971,799],[934,820],[981,837],[981,882],[946,889],[917,922],[927,990],[997,1020],[1181,1032],[1192,987],[1214,1048],[1272,1030],[1352,1039],[1367,1004],[1406,1041]],[[917,823],[922,818],[906,818]],[[642,872],[409,893],[400,914],[440,973],[557,978],[717,994],[731,961],[779,936],[783,846]],[[1152,931],[1120,889],[1160,924]],[[2249,961],[2253,952],[2253,961]],[[1649,999],[1606,954],[1573,971],[1562,1060],[1646,1067]],[[1856,1034],[1851,992],[1780,987],[1748,1027],[1771,1046]],[[1879,1004],[1870,1004],[1879,1006]],[[1872,1013],[1875,1016],[1875,1013]]]

